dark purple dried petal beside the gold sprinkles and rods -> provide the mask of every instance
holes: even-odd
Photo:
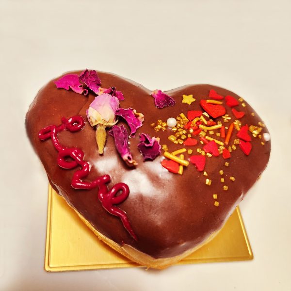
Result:
[[[142,153],[144,161],[153,161],[161,154],[160,139],[157,137],[151,138],[146,133],[140,134],[140,143],[137,147]]]

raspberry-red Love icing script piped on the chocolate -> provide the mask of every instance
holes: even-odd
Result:
[[[85,119],[80,115],[72,116],[68,119],[63,117],[62,125],[50,125],[41,129],[38,133],[38,138],[41,141],[45,141],[49,138],[51,139],[53,146],[59,152],[57,162],[61,168],[74,169],[78,166],[81,166],[81,170],[76,170],[76,172],[73,174],[71,186],[75,189],[85,190],[98,188],[98,199],[101,202],[103,208],[114,216],[119,217],[125,229],[129,232],[131,237],[137,241],[137,236],[131,228],[126,212],[115,206],[116,204],[120,204],[125,201],[129,196],[128,185],[125,183],[117,183],[111,188],[111,190],[108,190],[107,183],[109,183],[111,180],[109,175],[97,177],[92,182],[83,181],[83,178],[86,178],[91,170],[89,162],[83,160],[84,152],[78,147],[67,148],[62,146],[59,142],[57,136],[58,132],[63,130],[76,132],[83,129],[84,126]],[[71,161],[69,161],[67,158],[70,158]],[[118,193],[119,195],[116,196]]]

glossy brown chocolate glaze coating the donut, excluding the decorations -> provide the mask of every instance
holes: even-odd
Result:
[[[51,124],[60,125],[63,116],[81,114],[86,119],[85,110],[95,97],[91,93],[89,96],[83,96],[71,90],[57,89],[53,81],[38,92],[26,115],[27,134],[44,164],[50,184],[99,232],[120,245],[126,243],[154,258],[167,258],[200,244],[223,226],[235,206],[257,181],[268,163],[271,142],[266,142],[262,146],[260,144],[262,140],[252,137],[253,147],[250,155],[244,155],[237,146],[231,153],[231,158],[227,160],[229,167],[224,166],[226,160],[222,155],[217,158],[207,157],[205,171],[212,180],[211,186],[205,184],[206,177],[203,176],[203,172],[198,172],[192,164],[187,168],[184,167],[182,176],[172,174],[161,166],[162,155],[153,162],[143,162],[137,148],[139,133],[145,132],[150,136],[160,137],[161,145],[167,144],[169,151],[174,151],[182,146],[175,145],[167,139],[171,130],[156,132],[150,126],[151,123],[156,123],[157,119],[166,121],[167,118],[176,117],[179,113],[186,115],[188,110],[201,110],[199,101],[208,99],[210,89],[223,96],[231,95],[235,98],[239,96],[212,85],[187,85],[165,92],[176,100],[176,105],[158,109],[150,96],[151,91],[145,87],[113,74],[98,72],[98,75],[103,88],[116,86],[117,90],[122,91],[125,100],[120,101],[120,107],[131,107],[145,115],[142,128],[137,130],[135,138],[130,139],[130,149],[133,158],[139,163],[138,166],[129,168],[125,164],[117,153],[113,137],[110,135],[104,155],[98,155],[95,130],[88,122],[80,132],[63,131],[58,137],[64,146],[77,146],[83,150],[84,160],[93,165],[88,180],[109,174],[112,178],[110,187],[118,182],[128,184],[129,197],[119,207],[126,211],[138,241],[132,239],[120,219],[102,208],[97,198],[97,189],[88,191],[71,187],[75,169],[60,168],[57,165],[57,151],[51,142],[49,140],[41,142],[38,139],[40,129]],[[182,103],[183,94],[193,94],[196,101],[191,105]],[[241,118],[242,125],[258,125],[261,121],[258,114],[252,116],[251,113],[255,111],[247,103],[246,105],[244,108],[241,105],[235,107],[246,112]],[[235,118],[231,108],[225,107],[226,113],[232,116],[233,121]],[[218,120],[222,121],[222,118],[217,118],[216,121]],[[121,120],[118,125],[120,124],[124,122]],[[234,130],[230,145],[236,138],[236,132]],[[266,128],[261,134],[264,132],[268,132]],[[196,154],[196,147],[189,147],[194,149],[193,154]],[[185,154],[185,158],[188,157],[189,155]],[[221,169],[224,171],[223,176],[219,175]],[[234,182],[229,180],[230,176],[235,177]],[[220,181],[222,177],[225,178],[224,184]],[[225,184],[228,185],[228,191],[223,191]],[[214,206],[213,194],[218,194],[219,207]]]

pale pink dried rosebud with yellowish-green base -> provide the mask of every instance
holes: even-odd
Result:
[[[95,97],[86,110],[87,118],[92,127],[97,126],[96,141],[99,154],[103,154],[106,143],[106,127],[112,127],[115,121],[115,112],[119,108],[117,97],[110,94],[101,94]]]

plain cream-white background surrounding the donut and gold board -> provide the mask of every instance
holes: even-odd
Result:
[[[291,1],[0,0],[0,290],[291,290]],[[69,70],[149,89],[211,83],[245,98],[272,155],[241,203],[254,260],[49,274],[48,181],[24,128],[38,89]]]

